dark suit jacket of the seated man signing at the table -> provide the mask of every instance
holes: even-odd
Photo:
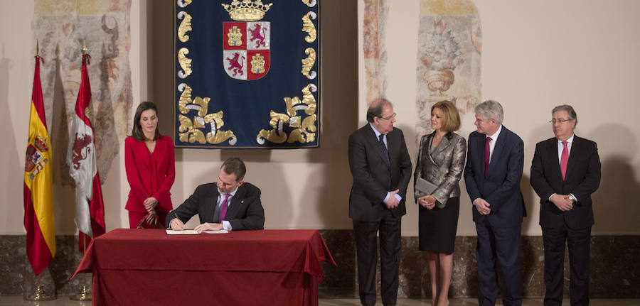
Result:
[[[187,222],[193,215],[198,214],[201,224],[217,223],[217,220],[213,220],[213,214],[218,195],[220,193],[215,182],[198,186],[191,197],[166,216],[166,227],[169,227],[169,222],[176,217],[176,214],[181,222]],[[225,220],[231,224],[234,231],[264,229],[265,209],[260,202],[260,189],[248,182],[240,185],[231,198]]]

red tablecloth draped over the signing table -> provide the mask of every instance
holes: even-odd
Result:
[[[316,230],[114,229],[75,273],[93,273],[93,305],[318,305],[321,261],[335,264]]]

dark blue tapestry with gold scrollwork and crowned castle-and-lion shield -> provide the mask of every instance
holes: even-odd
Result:
[[[177,0],[176,147],[319,146],[319,15],[319,0]]]

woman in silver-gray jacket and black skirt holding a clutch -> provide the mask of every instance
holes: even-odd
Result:
[[[460,115],[452,102],[442,101],[432,106],[431,129],[433,133],[420,139],[414,192],[420,204],[420,251],[429,254],[432,305],[445,306],[460,210],[459,181],[466,156],[466,141],[454,133],[460,129]],[[427,180],[434,190],[426,195],[424,190],[418,190],[416,182],[420,178]]]

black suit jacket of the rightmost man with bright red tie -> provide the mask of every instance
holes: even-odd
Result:
[[[531,186],[540,197],[540,225],[585,229],[594,224],[591,194],[600,185],[600,158],[596,143],[575,136],[571,145],[565,180],[560,173],[558,139],[549,138],[535,145],[531,163]],[[578,202],[562,212],[549,197],[572,194]]]

